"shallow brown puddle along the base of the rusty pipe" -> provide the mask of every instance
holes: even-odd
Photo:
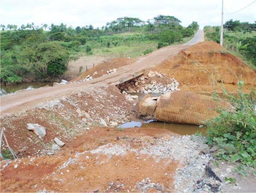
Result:
[[[145,122],[142,121],[130,121],[122,125],[119,125],[118,128],[127,128],[127,127],[148,127],[148,128],[157,128],[157,129],[167,129],[174,133],[180,135],[192,135],[196,132],[204,133],[206,129],[199,128],[198,125],[184,125],[184,124],[175,124],[175,123],[164,123],[155,120],[148,120]]]

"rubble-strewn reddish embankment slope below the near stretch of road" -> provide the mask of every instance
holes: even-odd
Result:
[[[7,123],[6,136],[15,144],[15,152],[25,149],[26,155],[40,156],[54,154],[61,147],[55,145],[55,138],[67,143],[94,126],[116,127],[129,121],[133,110],[132,103],[115,86],[95,85],[39,103],[31,111],[23,110],[14,117],[1,119],[1,123]],[[22,138],[21,131],[29,137]],[[16,138],[17,135],[20,137]]]

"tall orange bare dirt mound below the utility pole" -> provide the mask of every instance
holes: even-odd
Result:
[[[154,70],[174,77],[180,83],[180,88],[186,91],[212,92],[211,75],[217,83],[223,82],[224,87],[231,93],[237,92],[236,85],[240,77],[245,81],[245,92],[248,92],[251,86],[256,86],[256,72],[213,41],[200,42],[180,51]],[[219,86],[216,86],[216,89],[221,92]]]

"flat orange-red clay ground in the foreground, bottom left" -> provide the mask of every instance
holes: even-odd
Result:
[[[137,158],[132,151],[121,156],[113,154],[111,157],[104,153],[89,152],[108,143],[142,148],[144,142],[154,143],[154,138],[170,138],[173,134],[165,129],[152,128],[129,128],[122,131],[93,128],[67,143],[54,156],[22,158],[7,165],[5,169],[3,165],[6,161],[2,163],[1,192],[36,192],[43,189],[54,192],[127,192],[129,189],[130,192],[138,192],[134,188],[135,182],[148,176],[152,182],[160,182],[164,191],[173,191],[173,176],[179,164],[177,161],[161,159],[156,162],[147,154]],[[60,168],[69,158],[77,161]],[[113,184],[110,185],[110,182]],[[157,189],[147,191],[156,192]]]

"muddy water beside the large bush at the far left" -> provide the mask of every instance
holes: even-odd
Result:
[[[40,88],[43,86],[53,86],[51,82],[32,82],[32,83],[21,83],[17,85],[1,85],[1,91],[5,90],[6,94],[22,90],[26,88]]]

